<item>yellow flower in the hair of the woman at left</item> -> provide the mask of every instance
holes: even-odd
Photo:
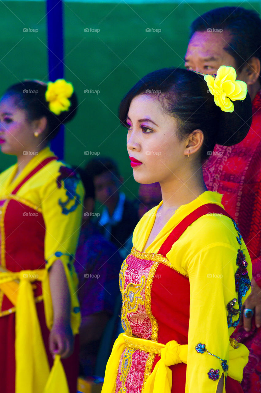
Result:
[[[72,83],[64,79],[57,79],[55,82],[48,82],[45,92],[45,99],[49,102],[49,109],[55,115],[61,114],[64,110],[69,110],[71,103],[68,98],[72,96],[74,87]]]

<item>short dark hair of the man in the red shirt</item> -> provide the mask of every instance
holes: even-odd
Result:
[[[222,29],[231,33],[231,41],[224,46],[224,50],[233,56],[239,72],[253,56],[261,62],[261,19],[256,11],[243,7],[211,9],[191,23],[189,39],[196,31],[207,29]]]

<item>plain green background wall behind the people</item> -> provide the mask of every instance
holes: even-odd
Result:
[[[242,3],[228,2],[239,6]],[[260,13],[260,3],[243,6]],[[84,166],[99,152],[114,158],[125,178],[123,191],[137,194],[126,150],[126,130],[119,126],[119,101],[143,75],[168,66],[183,66],[189,24],[224,3],[91,4],[64,3],[65,77],[75,86],[79,111],[66,125],[65,160]],[[26,78],[48,80],[44,2],[1,2],[0,94]],[[23,28],[39,29],[37,33]],[[85,28],[100,29],[85,32]],[[146,32],[161,29],[160,33]],[[85,90],[99,94],[85,94]],[[0,153],[0,169],[15,157]]]

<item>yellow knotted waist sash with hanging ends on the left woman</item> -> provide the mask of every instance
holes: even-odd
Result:
[[[31,282],[42,282],[42,294],[45,304],[51,301],[48,272],[46,269],[21,270],[20,272],[0,272],[0,284],[19,280],[17,290],[15,318],[15,393],[54,393],[54,381],[46,383],[50,374],[49,362],[42,339],[42,332],[35,307],[35,298]],[[4,288],[4,286],[2,286]],[[8,294],[6,293],[8,296]],[[13,296],[14,300],[15,297]],[[51,304],[51,303],[49,303]],[[60,358],[55,359],[53,368],[58,369],[55,378],[59,384],[67,385]],[[57,363],[60,365],[57,366]],[[62,370],[61,370],[62,368]],[[63,373],[62,373],[63,371]],[[50,375],[51,376],[51,375]],[[46,387],[46,388],[45,388]],[[57,390],[56,390],[57,391]],[[68,393],[66,390],[60,390]]]

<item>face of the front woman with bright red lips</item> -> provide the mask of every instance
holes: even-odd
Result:
[[[176,135],[177,121],[163,112],[157,96],[141,94],[132,99],[128,117],[127,150],[136,182],[164,183],[177,178],[187,156],[186,141]]]

